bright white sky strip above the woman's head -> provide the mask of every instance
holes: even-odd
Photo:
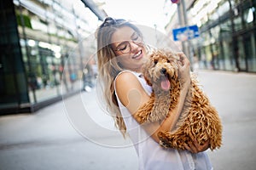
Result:
[[[113,18],[132,20],[153,28],[156,25],[159,31],[164,31],[164,3],[165,0],[105,0],[103,8]]]

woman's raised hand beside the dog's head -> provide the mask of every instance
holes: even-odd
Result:
[[[189,59],[186,57],[183,52],[177,52],[177,56],[179,57],[179,61],[181,65],[178,67],[178,74],[180,77],[180,82],[182,87],[184,85],[190,84],[190,68],[189,68]]]

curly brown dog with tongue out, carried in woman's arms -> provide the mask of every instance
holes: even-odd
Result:
[[[143,76],[152,86],[153,93],[148,103],[135,113],[137,122],[161,122],[177,106],[182,86],[178,77],[179,64],[178,55],[171,51],[159,49],[150,54]],[[197,83],[196,77],[191,75],[191,86],[174,129],[158,133],[161,146],[185,150],[184,145],[188,145],[192,138],[199,144],[209,140],[211,150],[221,146],[222,124],[218,112]]]

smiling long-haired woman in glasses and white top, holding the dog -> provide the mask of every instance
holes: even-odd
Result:
[[[157,133],[172,129],[175,124],[172,116],[163,122],[143,126],[133,117],[138,108],[147,103],[152,92],[141,74],[149,48],[143,43],[142,32],[137,26],[126,20],[108,17],[97,29],[96,38],[99,80],[104,84],[104,99],[120,132],[124,136],[129,134],[137,150],[139,169],[212,169],[204,152],[208,144],[200,145],[195,141],[186,146],[187,150],[165,150],[160,146]],[[177,54],[182,60],[179,77],[183,87],[173,114],[180,114],[190,84],[189,60],[183,53]]]

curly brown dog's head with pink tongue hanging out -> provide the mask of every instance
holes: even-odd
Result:
[[[148,62],[143,66],[143,76],[148,85],[170,90],[172,82],[177,82],[178,60],[176,54],[164,49],[149,54]]]

